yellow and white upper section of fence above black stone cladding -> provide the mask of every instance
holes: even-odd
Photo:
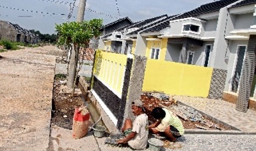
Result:
[[[93,73],[106,86],[122,94],[127,55],[97,50]]]

